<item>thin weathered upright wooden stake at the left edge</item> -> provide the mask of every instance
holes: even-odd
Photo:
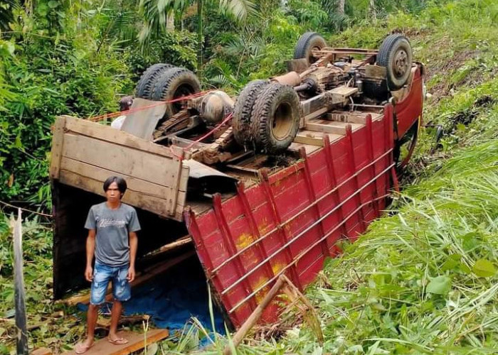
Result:
[[[21,233],[21,209],[17,219],[11,219],[14,236],[14,304],[16,308],[16,351],[28,355],[28,332],[26,330],[26,303],[24,300],[23,247]]]

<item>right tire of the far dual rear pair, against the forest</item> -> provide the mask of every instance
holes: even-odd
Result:
[[[154,101],[168,101],[179,97],[189,96],[201,91],[201,83],[196,75],[182,67],[171,67],[165,70],[154,84],[152,99]],[[166,105],[167,119],[184,106],[184,102],[172,102]]]

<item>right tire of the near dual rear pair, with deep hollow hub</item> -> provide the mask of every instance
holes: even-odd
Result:
[[[270,84],[258,95],[251,119],[256,147],[269,154],[289,148],[299,130],[300,100],[289,85]]]

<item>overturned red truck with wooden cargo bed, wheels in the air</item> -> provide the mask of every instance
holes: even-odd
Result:
[[[379,50],[329,48],[304,33],[288,72],[233,99],[157,64],[142,75],[120,129],[63,116],[51,158],[55,297],[85,284],[84,220],[102,182],[124,177],[137,208],[137,267],[198,262],[237,328],[279,275],[303,289],[381,216],[415,146],[424,67],[408,39]],[[190,256],[190,258],[189,258]],[[277,305],[267,307],[272,322]]]

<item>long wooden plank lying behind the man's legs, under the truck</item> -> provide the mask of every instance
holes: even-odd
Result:
[[[130,284],[133,287],[136,287],[137,285],[141,285],[142,283],[146,283],[148,280],[151,280],[152,278],[156,277],[157,275],[160,275],[161,273],[164,273],[165,271],[168,271],[169,268],[172,268],[173,266],[177,265],[178,263],[181,263],[182,261],[186,260],[187,258],[190,258],[193,256],[196,252],[195,251],[188,251],[184,254],[181,254],[180,256],[176,256],[176,258],[172,258],[170,260],[164,261],[163,263],[157,263],[151,268],[148,268],[145,270],[143,273],[138,273],[137,277],[133,280],[133,282]],[[105,295],[105,300],[106,301],[111,301],[112,300],[112,286],[108,285],[107,286],[107,293]],[[61,303],[65,303],[66,305],[78,305],[78,303],[84,303],[87,304],[90,302],[90,293],[85,293],[84,295],[76,295],[73,297],[65,298],[63,300],[60,300]]]

